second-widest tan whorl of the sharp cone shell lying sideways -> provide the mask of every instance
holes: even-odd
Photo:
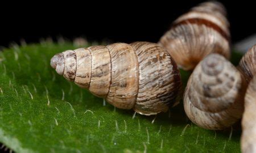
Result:
[[[117,108],[134,107],[138,93],[138,59],[129,44],[115,43],[106,46],[112,62],[112,80],[106,100]]]

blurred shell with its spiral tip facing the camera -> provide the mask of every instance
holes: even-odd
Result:
[[[210,54],[189,77],[183,97],[185,113],[201,128],[228,128],[242,117],[244,84],[232,63],[220,54]]]

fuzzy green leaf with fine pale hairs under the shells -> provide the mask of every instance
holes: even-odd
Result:
[[[182,103],[157,116],[104,105],[50,67],[51,57],[67,49],[75,46],[42,42],[0,53],[0,142],[12,150],[240,152],[240,130],[201,129],[187,119]],[[189,73],[181,75],[187,82]]]

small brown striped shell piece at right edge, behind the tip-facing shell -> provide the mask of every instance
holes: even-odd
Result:
[[[242,57],[238,65],[238,69],[249,83],[253,78],[253,75],[256,73],[256,44]]]

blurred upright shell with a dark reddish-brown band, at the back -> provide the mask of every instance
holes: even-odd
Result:
[[[219,2],[204,2],[181,15],[160,39],[184,70],[195,68],[205,56],[218,53],[230,57],[229,22]]]

